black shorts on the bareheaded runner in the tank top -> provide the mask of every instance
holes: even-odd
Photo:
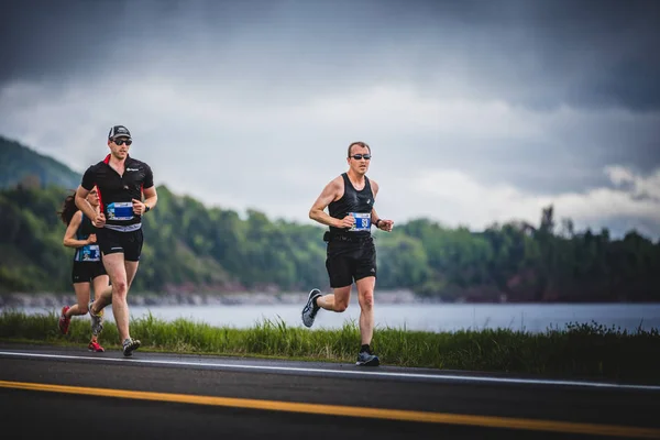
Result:
[[[356,242],[330,241],[326,258],[330,287],[345,287],[353,280],[376,276],[376,248],[373,238]]]

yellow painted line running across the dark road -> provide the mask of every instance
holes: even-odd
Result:
[[[257,400],[216,396],[195,396],[172,393],[134,392],[125,389],[90,388],[82,386],[35,384],[26,382],[0,381],[0,387],[51,393],[79,394],[88,396],[120,397],[140,400],[174,402],[178,404],[211,405],[232,408],[264,409],[272,411],[319,414],[326,416],[363,417],[374,419],[420,421],[427,424],[463,425],[484,428],[507,428],[560,433],[582,433],[639,439],[660,439],[660,429],[626,427],[617,425],[578,424],[571,421],[410,411],[403,409],[300,404],[292,402]]]

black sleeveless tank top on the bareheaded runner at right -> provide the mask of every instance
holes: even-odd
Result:
[[[364,176],[364,188],[356,190],[349,179],[349,175],[343,173],[341,175],[344,179],[344,194],[337,200],[331,201],[328,205],[328,212],[330,217],[336,219],[343,219],[349,213],[355,217],[355,226],[352,229],[339,229],[330,227],[332,233],[351,233],[355,235],[370,235],[371,234],[371,211],[374,207],[374,195],[371,190],[371,183],[369,177]]]

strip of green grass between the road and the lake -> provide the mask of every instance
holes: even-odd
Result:
[[[185,319],[167,322],[148,315],[131,321],[131,334],[142,341],[141,350],[324,362],[352,363],[360,345],[355,322],[338,330],[309,330],[288,327],[280,319],[263,319],[252,328],[235,329]],[[89,319],[72,319],[69,334],[62,336],[55,312],[28,316],[4,310],[0,314],[0,340],[86,345]],[[107,349],[119,349],[114,323],[106,324],[100,342]],[[660,383],[658,329],[628,332],[596,322],[542,333],[377,328],[373,348],[386,365]]]

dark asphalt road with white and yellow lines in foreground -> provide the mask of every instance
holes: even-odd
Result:
[[[660,387],[0,343],[0,420],[89,440],[660,438]]]

